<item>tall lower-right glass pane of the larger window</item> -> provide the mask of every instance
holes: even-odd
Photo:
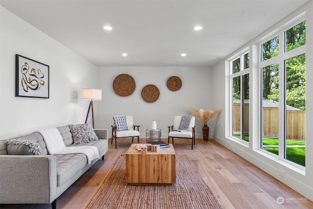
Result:
[[[285,60],[284,158],[305,165],[305,54]]]

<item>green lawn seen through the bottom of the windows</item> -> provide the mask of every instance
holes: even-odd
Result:
[[[240,135],[233,135],[234,137],[240,139]],[[249,141],[249,136],[246,135],[244,140]],[[305,141],[298,141],[287,139],[287,145],[305,145]],[[263,138],[263,145],[278,145],[277,138]],[[278,147],[263,147],[264,150],[278,155]],[[305,166],[305,147],[286,147],[286,159]]]

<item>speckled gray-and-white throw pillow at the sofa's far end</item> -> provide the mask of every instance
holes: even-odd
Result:
[[[70,132],[72,133],[74,144],[88,143],[89,141],[98,140],[97,135],[91,124],[77,124],[69,125]]]

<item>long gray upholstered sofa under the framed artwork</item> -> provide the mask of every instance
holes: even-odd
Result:
[[[66,146],[73,144],[68,126],[57,128]],[[94,130],[99,140],[79,146],[95,146],[104,160],[108,131]],[[0,141],[0,204],[51,204],[99,159],[87,162],[84,154],[49,155],[39,132],[15,139],[35,140],[43,155],[8,155],[6,141]]]

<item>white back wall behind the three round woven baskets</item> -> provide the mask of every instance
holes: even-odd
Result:
[[[119,96],[113,91],[112,83],[119,74],[131,75],[136,88],[130,96]],[[170,91],[166,82],[173,75],[179,76],[182,87]],[[191,108],[210,109],[212,103],[211,69],[201,67],[101,67],[97,73],[98,88],[102,89],[102,101],[98,105],[96,126],[109,129],[113,115],[133,115],[134,123],[141,125],[140,137],[145,138],[146,127],[151,128],[156,120],[162,129],[162,138],[167,138],[168,126],[173,125],[175,115],[190,114]],[[156,102],[147,103],[141,97],[141,90],[148,84],[155,85],[160,92]],[[196,123],[196,137],[202,136],[201,122]]]

